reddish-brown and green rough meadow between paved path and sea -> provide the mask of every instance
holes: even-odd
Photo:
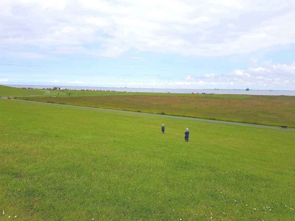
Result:
[[[66,91],[19,99],[295,128],[294,96]]]

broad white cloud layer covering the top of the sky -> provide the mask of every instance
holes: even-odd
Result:
[[[15,0],[0,3],[0,44],[44,53],[236,55],[295,43],[295,2]],[[251,17],[251,19],[248,19]],[[62,47],[76,48],[62,48]],[[55,48],[56,47],[56,48]],[[80,48],[81,47],[81,48]],[[45,49],[45,50],[44,50]],[[31,56],[41,56],[37,50]],[[15,53],[15,56],[20,55]],[[252,58],[257,62],[257,58]]]

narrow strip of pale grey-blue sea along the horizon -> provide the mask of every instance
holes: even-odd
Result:
[[[69,90],[112,90],[118,92],[149,92],[149,93],[207,93],[207,94],[248,94],[248,95],[285,95],[295,96],[294,90],[240,90],[240,89],[182,89],[182,88],[116,88],[116,87],[93,87],[93,86],[66,86],[66,85],[19,85],[1,84],[14,88],[54,88]]]

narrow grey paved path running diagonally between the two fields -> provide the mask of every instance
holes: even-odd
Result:
[[[32,95],[32,96],[34,96],[34,95]],[[7,97],[1,97],[1,98],[7,100]],[[11,99],[11,100],[18,100],[18,99]],[[140,113],[140,112],[132,112],[132,111],[124,111],[124,110],[91,108],[91,107],[66,105],[66,104],[45,103],[45,102],[38,102],[38,101],[32,101],[32,100],[18,100],[18,101],[49,104],[49,105],[58,105],[58,106],[66,106],[66,107],[75,107],[75,108],[94,109],[94,110],[107,110],[107,111],[114,111],[114,112],[121,112],[121,113],[142,114],[142,115],[150,115],[150,116],[158,116],[158,117],[160,116],[160,117],[178,118],[178,119],[193,120],[193,121],[206,121],[206,122],[214,122],[214,123],[226,123],[226,124],[234,124],[234,125],[241,125],[241,126],[262,127],[262,128],[271,128],[271,129],[284,130],[284,129],[280,128],[280,127],[269,127],[269,126],[260,126],[260,125],[253,125],[253,124],[244,124],[244,123],[232,123],[232,122],[226,122],[226,121],[213,121],[213,120],[205,120],[205,119],[198,119],[198,118],[176,117],[176,116],[169,116],[169,115],[160,115],[160,114],[152,114],[152,113]],[[295,129],[287,129],[287,130],[288,131],[295,131]]]

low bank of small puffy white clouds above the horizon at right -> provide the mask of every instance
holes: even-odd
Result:
[[[295,85],[295,69],[292,65],[267,65],[261,67],[249,67],[247,71],[236,69],[232,72],[219,74],[218,77],[212,74],[186,77],[186,81],[165,81],[165,82],[153,82],[153,81],[130,81],[127,85],[133,85],[134,87],[158,87],[158,88],[225,88],[225,89],[245,89],[247,87],[251,89],[279,89],[286,90],[288,88],[294,88]],[[285,70],[285,71],[283,71]],[[290,80],[290,71],[293,71],[293,79]],[[149,78],[152,75],[148,76]],[[212,81],[212,77],[214,81]],[[210,80],[210,81],[209,81]],[[124,83],[123,83],[124,84]],[[293,85],[293,86],[292,86]],[[210,87],[211,86],[211,87]]]

